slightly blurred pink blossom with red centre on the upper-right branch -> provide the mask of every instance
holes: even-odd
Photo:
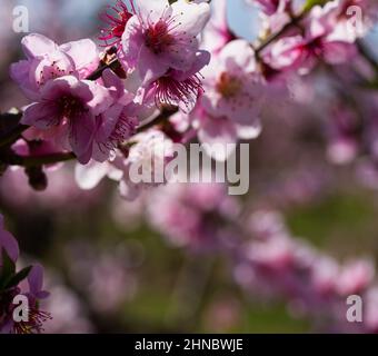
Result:
[[[356,56],[355,38],[337,27],[321,7],[311,10],[305,36],[285,37],[271,46],[265,60],[276,70],[308,73],[319,60],[341,65]]]

